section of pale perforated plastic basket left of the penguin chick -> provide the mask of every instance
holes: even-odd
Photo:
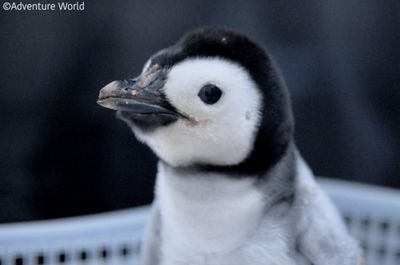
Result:
[[[0,265],[137,264],[147,212],[0,225]]]

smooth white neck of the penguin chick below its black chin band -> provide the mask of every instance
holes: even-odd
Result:
[[[180,249],[201,253],[227,253],[240,247],[288,188],[277,172],[260,180],[174,168],[162,162],[158,167],[156,198],[163,236]]]

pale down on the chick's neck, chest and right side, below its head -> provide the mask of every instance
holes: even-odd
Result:
[[[272,204],[271,190],[254,181],[160,164],[160,264],[361,264],[356,242],[299,155],[292,204]]]

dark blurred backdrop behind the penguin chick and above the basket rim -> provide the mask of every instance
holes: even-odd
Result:
[[[149,203],[155,157],[98,91],[204,25],[270,51],[316,174],[400,187],[398,0],[101,0],[0,15],[0,222]]]

